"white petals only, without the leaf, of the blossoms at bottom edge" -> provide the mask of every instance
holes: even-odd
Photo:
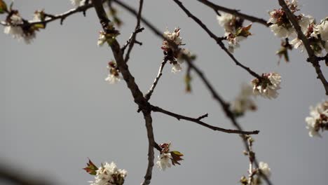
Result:
[[[105,163],[97,170],[95,181],[91,181],[90,185],[114,185],[123,184],[124,178],[128,172],[126,170],[117,169],[114,162]],[[115,178],[114,178],[115,177]]]

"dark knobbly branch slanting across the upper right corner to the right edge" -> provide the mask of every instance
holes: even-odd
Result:
[[[289,19],[290,22],[292,22],[292,25],[296,30],[297,37],[301,39],[301,41],[303,42],[303,45],[306,48],[306,52],[308,53],[308,60],[315,68],[315,72],[317,73],[317,78],[319,78],[320,81],[322,82],[322,85],[324,85],[324,90],[326,90],[326,95],[328,95],[328,82],[326,78],[324,78],[324,75],[322,74],[319,61],[317,60],[317,57],[315,56],[314,51],[310,46],[310,41],[308,41],[306,36],[301,31],[301,27],[299,26],[299,23],[297,22],[295,15],[289,10],[285,1],[284,0],[278,0],[278,1],[279,1],[279,5],[285,11],[287,18]]]

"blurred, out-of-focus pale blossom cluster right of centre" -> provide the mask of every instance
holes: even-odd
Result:
[[[242,89],[238,97],[236,97],[231,104],[231,111],[233,114],[235,114],[235,116],[242,116],[247,110],[255,111],[257,109],[257,105],[255,104],[252,97],[252,86],[248,84],[242,84]]]

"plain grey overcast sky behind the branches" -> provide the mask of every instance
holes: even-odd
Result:
[[[125,2],[137,7],[139,1]],[[266,20],[268,11],[279,8],[278,1],[213,2]],[[215,34],[224,34],[214,11],[198,1],[183,3]],[[317,21],[327,16],[327,0],[302,0],[300,4],[301,12]],[[14,8],[30,19],[36,9],[56,14],[73,7],[69,0],[16,0]],[[173,1],[146,0],[142,14],[163,32],[166,27],[182,29],[185,47],[198,56],[195,64],[225,100],[233,100],[240,84],[252,80]],[[118,36],[123,44],[136,20],[121,8],[118,15],[124,22]],[[93,177],[82,170],[88,158],[98,165],[113,160],[128,170],[125,184],[142,182],[148,149],[144,119],[124,81],[116,85],[104,81],[107,62],[114,56],[107,46],[97,47],[100,30],[95,11],[90,9],[86,18],[79,13],[64,20],[64,25],[59,21],[48,24],[30,45],[0,34],[0,163],[57,184],[88,184]],[[308,137],[304,121],[308,107],[327,98],[315,69],[299,50],[292,50],[291,62],[278,65],[275,51],[280,39],[256,23],[251,32],[235,50],[235,57],[259,74],[279,72],[282,89],[276,100],[258,97],[259,110],[238,121],[246,130],[261,131],[254,137],[254,151],[258,160],[270,165],[273,184],[327,184],[328,134]],[[137,38],[143,45],[135,46],[128,64],[139,88],[146,92],[163,58],[162,41],[147,27]],[[208,113],[206,123],[233,128],[196,74],[192,74],[192,93],[184,92],[186,65],[182,67],[179,74],[165,67],[151,103],[191,117]],[[322,65],[322,71],[328,77],[327,67]],[[185,155],[181,166],[165,172],[154,167],[152,184],[238,184],[247,175],[249,161],[242,154],[238,135],[163,114],[152,116],[156,142],[172,142],[172,149]]]

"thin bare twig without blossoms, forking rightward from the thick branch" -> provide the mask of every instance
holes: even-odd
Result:
[[[151,106],[151,110],[152,111],[155,111],[155,112],[161,112],[161,113],[166,114],[168,116],[175,117],[178,120],[191,121],[193,123],[198,123],[199,125],[202,125],[202,126],[204,126],[206,128],[210,128],[211,130],[225,132],[225,133],[229,133],[229,134],[257,135],[259,133],[259,130],[242,131],[242,130],[231,130],[231,129],[225,129],[225,128],[215,127],[215,126],[212,126],[212,125],[208,125],[207,123],[204,123],[203,121],[200,121],[199,118],[191,118],[191,117],[187,117],[187,116],[182,116],[180,114],[175,114],[173,112],[166,111],[166,110],[161,109],[160,107],[156,107],[156,106]]]

